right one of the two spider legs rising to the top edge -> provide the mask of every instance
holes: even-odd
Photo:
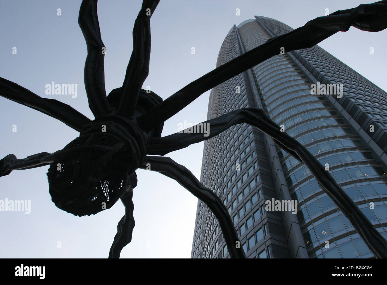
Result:
[[[130,56],[122,85],[122,94],[118,105],[118,114],[132,117],[137,99],[149,73],[151,56],[151,16],[160,0],[144,0],[141,10],[134,22],[133,52]]]

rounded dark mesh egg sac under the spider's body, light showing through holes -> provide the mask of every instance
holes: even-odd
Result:
[[[128,153],[125,144],[112,134],[76,138],[48,169],[52,201],[78,216],[109,209],[128,186],[132,159]]]

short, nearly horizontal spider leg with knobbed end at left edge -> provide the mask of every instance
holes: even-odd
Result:
[[[23,159],[17,159],[14,154],[9,154],[3,159],[0,159],[0,176],[8,175],[12,170],[30,169],[51,164],[54,162],[55,156],[60,154],[61,151],[58,150],[52,154],[41,152]]]

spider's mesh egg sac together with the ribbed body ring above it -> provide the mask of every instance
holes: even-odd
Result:
[[[137,185],[135,170],[146,154],[145,134],[117,116],[86,125],[48,169],[55,205],[78,216],[109,209]]]

